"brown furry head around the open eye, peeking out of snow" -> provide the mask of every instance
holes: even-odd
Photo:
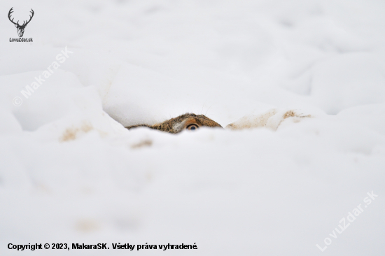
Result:
[[[179,117],[172,118],[156,125],[132,125],[126,127],[127,129],[137,128],[137,127],[149,127],[151,129],[157,129],[160,131],[167,131],[172,134],[178,134],[179,132],[185,130],[188,125],[196,125],[197,127],[221,127],[217,122],[214,122],[210,118],[207,118],[205,115],[195,115],[193,113],[186,113],[184,115],[179,115]],[[222,128],[222,127],[221,127]]]

